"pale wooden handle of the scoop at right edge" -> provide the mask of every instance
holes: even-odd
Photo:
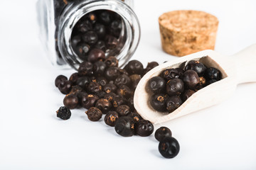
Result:
[[[232,55],[235,62],[238,84],[256,81],[256,44]]]

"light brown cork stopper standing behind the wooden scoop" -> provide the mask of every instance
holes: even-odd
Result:
[[[159,28],[163,50],[182,57],[214,50],[218,18],[203,11],[171,11],[159,17]]]

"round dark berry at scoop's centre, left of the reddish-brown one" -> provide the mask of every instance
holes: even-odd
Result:
[[[184,91],[184,84],[181,79],[170,79],[166,84],[166,94],[169,96],[180,95]]]

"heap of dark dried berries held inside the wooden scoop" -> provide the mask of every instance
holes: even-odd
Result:
[[[209,67],[197,60],[191,60],[184,69],[165,69],[148,82],[153,93],[149,102],[159,112],[174,112],[196,91],[222,79],[220,70]]]

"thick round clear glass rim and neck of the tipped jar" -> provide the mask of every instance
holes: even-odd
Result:
[[[86,13],[96,10],[110,10],[119,14],[123,20],[124,31],[123,34],[126,39],[120,40],[124,42],[122,49],[116,55],[119,60],[119,66],[122,65],[132,57],[140,38],[140,27],[137,16],[132,8],[130,8],[123,1],[119,0],[87,0],[87,1],[74,1],[70,3],[63,11],[58,25],[58,47],[60,54],[63,56],[65,62],[71,67],[78,69],[82,60],[73,52],[71,47],[71,35],[75,24],[78,23],[82,16]]]

